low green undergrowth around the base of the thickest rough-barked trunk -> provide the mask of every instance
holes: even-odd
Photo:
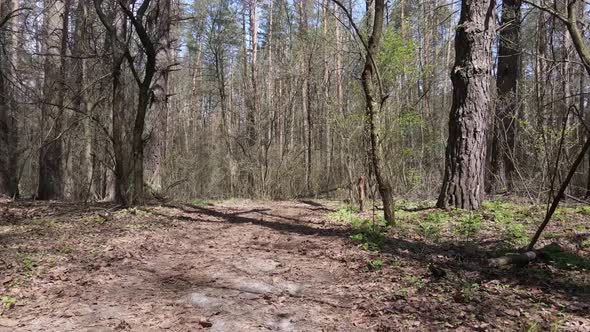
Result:
[[[354,241],[365,249],[378,250],[390,229],[395,229],[397,236],[418,236],[432,242],[442,239],[477,242],[485,238],[499,240],[499,247],[523,246],[530,241],[544,215],[542,206],[503,201],[485,202],[478,211],[440,210],[433,205],[398,201],[393,226],[387,226],[382,212],[371,217],[370,213],[360,214],[353,205],[342,206],[328,218],[351,225],[356,231],[351,236]],[[559,220],[573,213],[590,215],[590,208],[562,208],[557,212],[556,220]],[[586,245],[590,246],[590,241]]]

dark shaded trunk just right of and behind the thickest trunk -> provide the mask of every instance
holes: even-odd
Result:
[[[504,0],[502,4],[502,30],[498,49],[496,79],[497,101],[492,138],[491,191],[496,191],[498,179],[506,181],[512,190],[516,115],[519,105],[518,80],[520,74],[520,20],[521,0]]]

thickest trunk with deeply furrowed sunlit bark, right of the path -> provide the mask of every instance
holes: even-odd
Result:
[[[486,130],[492,105],[495,0],[463,0],[451,73],[445,174],[437,206],[478,209],[484,191]]]

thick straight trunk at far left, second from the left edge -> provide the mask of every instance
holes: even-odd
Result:
[[[70,0],[45,1],[45,79],[41,107],[42,140],[39,151],[38,199],[61,199],[64,194],[63,139],[61,138],[65,98]],[[60,61],[61,60],[61,61]]]

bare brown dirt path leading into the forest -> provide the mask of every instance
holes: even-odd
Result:
[[[325,227],[325,209],[185,206],[113,216],[116,225],[86,234],[99,242],[72,248],[80,252],[12,289],[21,300],[0,330],[361,329],[362,299],[347,291],[356,287],[347,267],[356,248],[338,236],[344,230]],[[69,228],[55,232],[62,245],[85,241],[75,225],[51,222]]]

